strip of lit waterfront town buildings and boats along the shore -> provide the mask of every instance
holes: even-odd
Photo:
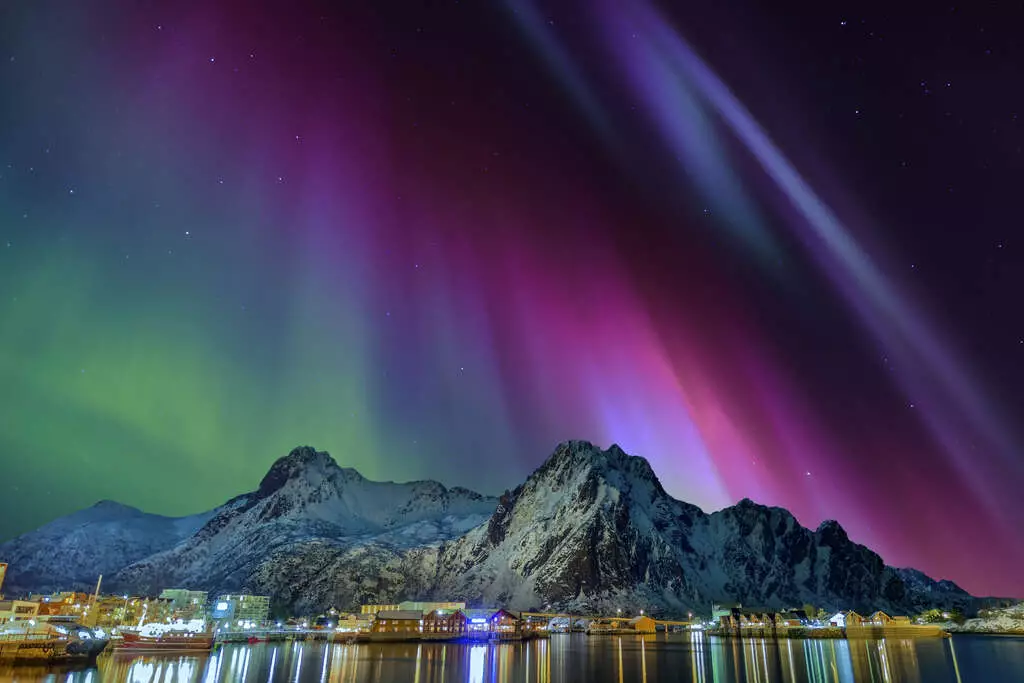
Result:
[[[0,577],[4,565],[0,564]],[[878,610],[826,614],[809,606],[757,610],[715,603],[710,612],[670,620],[642,608],[614,614],[521,611],[463,601],[364,604],[349,611],[283,616],[265,595],[216,594],[167,588],[156,596],[67,591],[20,597],[0,594],[0,658],[76,659],[106,651],[210,650],[219,643],[283,640],[361,642],[504,642],[553,634],[650,636],[702,632],[726,638],[935,638],[947,635],[926,615],[911,618]],[[0,586],[2,588],[2,586]],[[951,614],[944,614],[946,618]]]

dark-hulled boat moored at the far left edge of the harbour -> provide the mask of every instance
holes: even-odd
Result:
[[[90,661],[106,647],[101,629],[77,623],[15,622],[0,628],[0,660]]]

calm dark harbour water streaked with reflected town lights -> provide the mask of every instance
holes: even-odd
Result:
[[[0,669],[26,683],[1024,683],[1024,638],[725,640],[556,635],[502,645],[272,643],[205,656],[103,656],[80,671]]]

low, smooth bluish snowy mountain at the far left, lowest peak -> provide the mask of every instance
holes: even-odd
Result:
[[[163,517],[100,501],[0,545],[10,565],[4,591],[92,590],[99,574],[173,547],[211,515]]]

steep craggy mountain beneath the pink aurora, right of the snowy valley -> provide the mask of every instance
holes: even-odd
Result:
[[[887,567],[839,523],[801,526],[749,500],[713,514],[670,497],[642,458],[562,443],[485,525],[445,544],[436,595],[586,609],[892,609],[971,603],[948,582]]]

